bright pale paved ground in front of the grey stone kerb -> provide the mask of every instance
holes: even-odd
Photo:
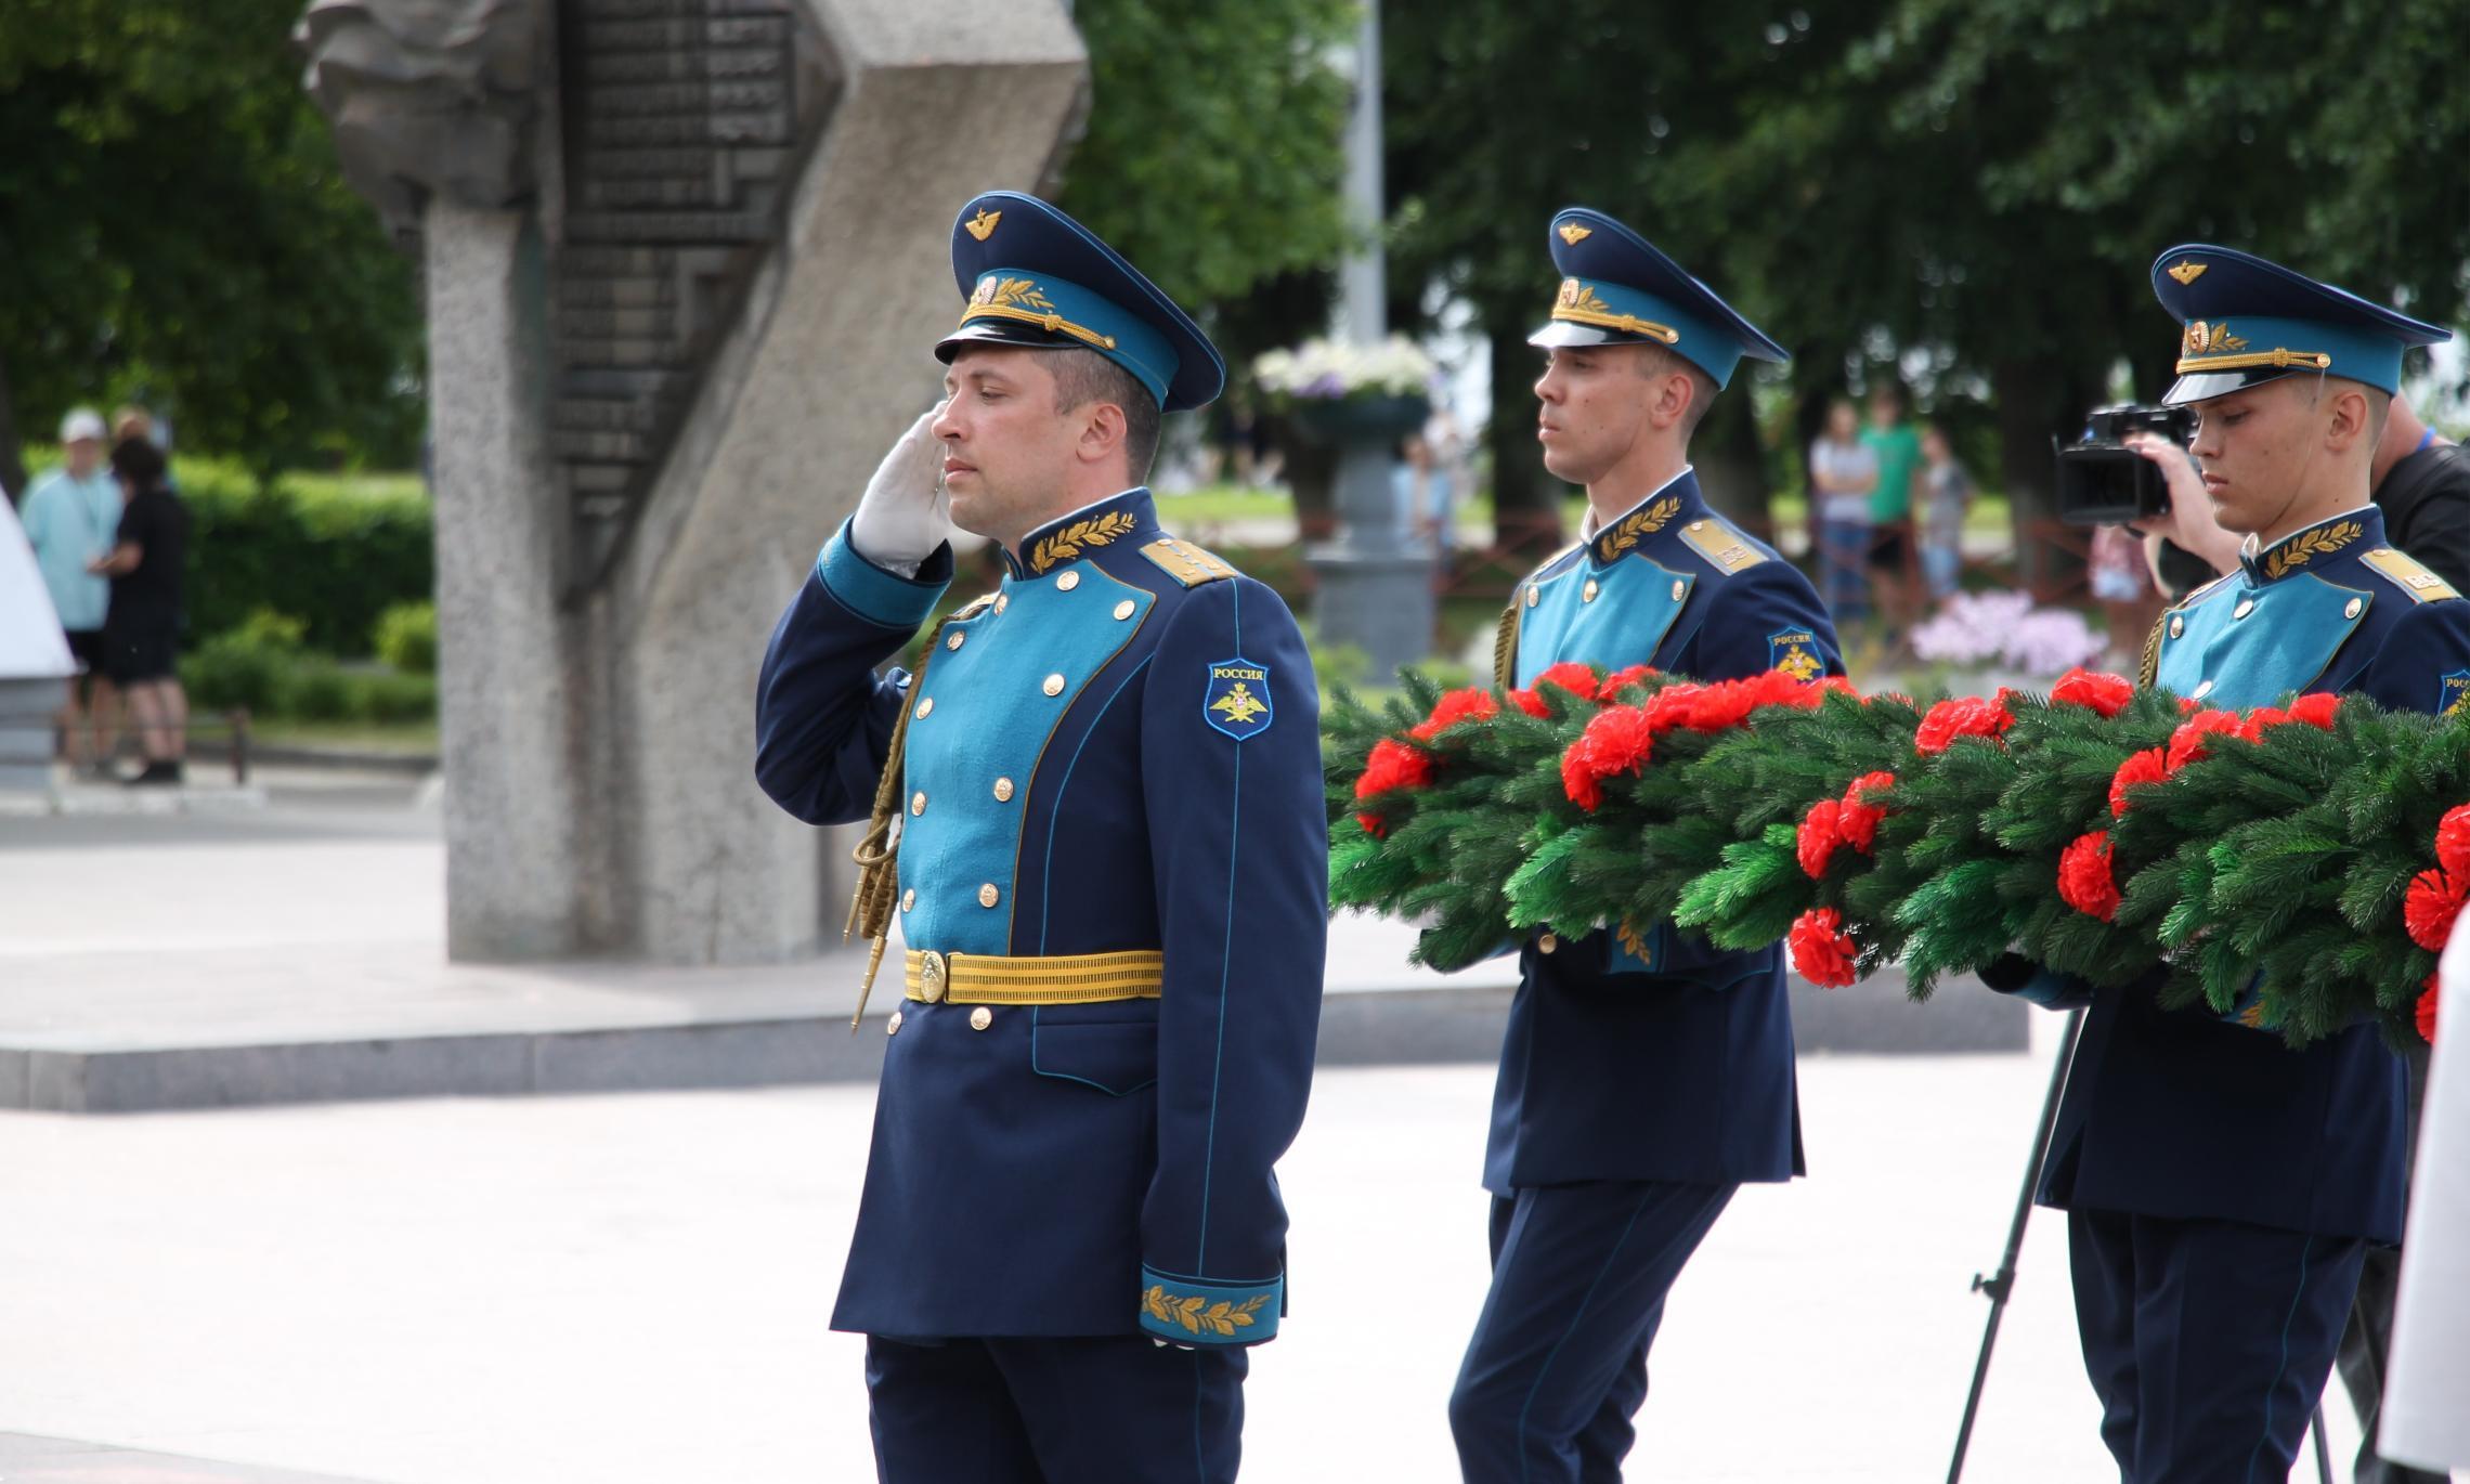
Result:
[[[1682,1277],[1630,1477],[1944,1477],[1986,1309],[1966,1282],[2043,1077],[1806,1059],[1815,1178],[1746,1190]],[[1455,1479],[1487,1094],[1480,1067],[1321,1074],[1250,1479]],[[0,1114],[0,1432],[385,1484],[867,1479],[860,1341],[827,1319],[869,1111],[820,1086]],[[2109,1477],[2065,1289],[2045,1217],[1971,1479]]]

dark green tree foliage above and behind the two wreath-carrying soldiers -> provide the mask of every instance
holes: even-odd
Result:
[[[1442,0],[1388,32],[1400,267],[1514,338],[1544,222],[1640,227],[1796,351],[1808,405],[1927,356],[1998,402],[2001,484],[2109,385],[2164,385],[2146,284],[2174,242],[2248,247],[2453,319],[2470,291],[2460,0],[1803,0],[1783,10]],[[1526,380],[1494,358],[1502,405]],[[1502,375],[1512,370],[1512,375]],[[1494,440],[1504,499],[1534,467]],[[1803,425],[1806,427],[1806,425]],[[1702,435],[1704,440],[1707,435]],[[1796,440],[1798,442],[1798,440]]]

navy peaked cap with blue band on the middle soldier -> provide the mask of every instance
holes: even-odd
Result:
[[[1554,294],[1551,323],[1526,336],[1529,346],[1667,346],[1712,375],[1717,388],[1731,383],[1731,368],[1744,356],[1791,361],[1714,289],[1598,210],[1561,207],[1549,247],[1561,291]]]

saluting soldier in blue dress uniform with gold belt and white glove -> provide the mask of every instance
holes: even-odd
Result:
[[[906,941],[832,1326],[867,1336],[887,1482],[1215,1484],[1287,1309],[1272,1165],[1326,936],[1312,662],[1141,489],[1161,410],[1225,380],[1200,328],[1028,195],[971,200],[951,259],[946,402],[823,548],[756,699],[781,807],[874,805],[857,916]],[[877,674],[951,583],[948,523],[1000,543],[1003,585]]]

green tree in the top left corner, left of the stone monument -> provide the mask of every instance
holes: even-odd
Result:
[[[296,0],[0,10],[0,481],[20,417],[148,395],[262,479],[408,459],[412,264],[343,185],[289,44]]]

